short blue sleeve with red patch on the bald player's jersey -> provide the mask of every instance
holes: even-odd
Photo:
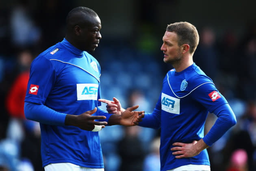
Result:
[[[49,59],[37,57],[30,67],[25,101],[44,104],[56,80],[54,66]]]

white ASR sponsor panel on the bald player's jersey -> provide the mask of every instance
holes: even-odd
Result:
[[[97,100],[98,84],[76,84],[77,100]]]

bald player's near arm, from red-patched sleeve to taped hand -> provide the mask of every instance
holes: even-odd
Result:
[[[88,131],[93,130],[95,125],[104,127],[106,122],[94,120],[105,116],[91,116],[95,109],[78,115],[69,115],[56,112],[44,105],[55,84],[56,73],[52,62],[44,56],[39,56],[32,62],[24,104],[26,118],[48,125],[72,125]]]

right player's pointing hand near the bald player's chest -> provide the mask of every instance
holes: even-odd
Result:
[[[113,97],[113,101],[106,99],[98,99],[98,101],[106,103],[106,110],[109,114],[121,114],[124,112],[124,109],[121,107],[121,103],[115,97]]]

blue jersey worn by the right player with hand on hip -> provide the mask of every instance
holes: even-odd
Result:
[[[210,165],[205,150],[191,158],[175,158],[174,142],[191,143],[204,137],[204,123],[209,112],[228,103],[213,81],[195,63],[182,72],[170,70],[154,112],[161,119],[161,171],[182,165]]]

